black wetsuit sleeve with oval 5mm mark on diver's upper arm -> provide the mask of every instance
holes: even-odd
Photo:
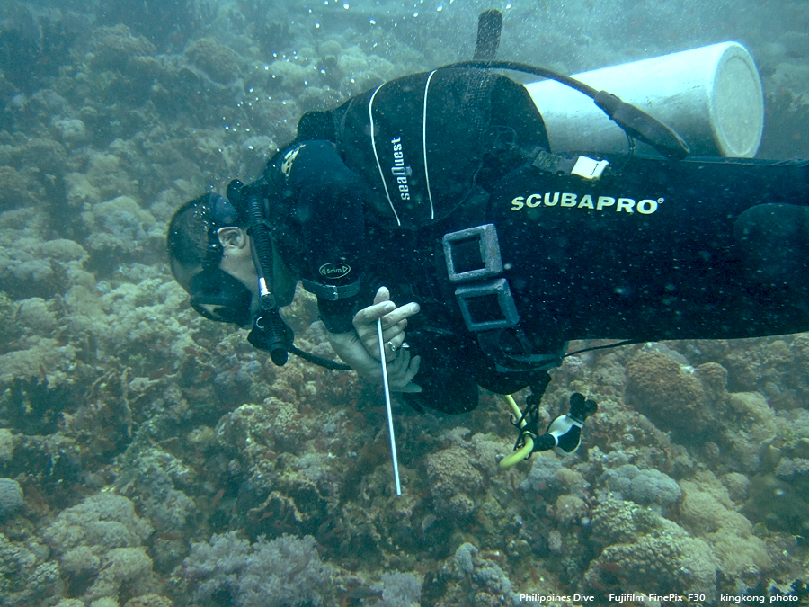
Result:
[[[359,287],[365,233],[357,176],[328,141],[298,143],[273,168],[284,199],[274,230],[281,254],[301,272],[307,290],[314,290],[326,328],[351,331],[358,296],[344,293]],[[327,295],[333,287],[342,291],[339,299]]]

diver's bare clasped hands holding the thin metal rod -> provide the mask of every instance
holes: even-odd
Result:
[[[382,319],[382,338],[385,342],[385,358],[387,360],[387,383],[393,392],[421,392],[422,388],[413,383],[422,362],[420,356],[411,358],[410,351],[400,349],[405,342],[405,326],[407,317],[418,313],[415,303],[396,308],[390,301],[390,293],[383,287],[377,291],[374,305],[361,309],[354,316],[354,331],[348,333],[329,333],[329,343],[351,369],[357,371],[364,379],[373,383],[382,383],[382,369],[379,362],[379,344],[377,337],[377,319]],[[390,345],[396,346],[396,351]]]

